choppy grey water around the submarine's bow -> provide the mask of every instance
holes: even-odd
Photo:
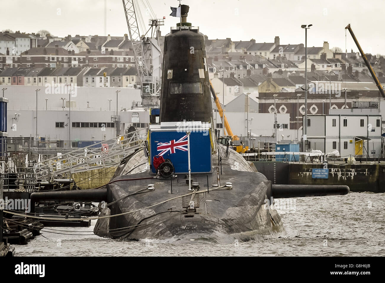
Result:
[[[384,256],[385,193],[277,200],[287,236],[233,244],[154,244],[52,234],[44,229],[16,256]],[[53,227],[84,231],[90,227]],[[54,231],[65,233],[61,231]]]

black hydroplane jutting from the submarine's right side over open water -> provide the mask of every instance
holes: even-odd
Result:
[[[349,192],[345,185],[272,185],[271,189],[275,199],[346,195]]]

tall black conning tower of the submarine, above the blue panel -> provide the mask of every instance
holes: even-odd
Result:
[[[160,122],[213,121],[204,35],[188,11],[181,5],[181,23],[164,37]]]

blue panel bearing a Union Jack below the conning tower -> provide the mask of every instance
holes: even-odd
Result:
[[[188,153],[187,136],[184,132],[178,131],[151,131],[150,132],[150,152],[151,164],[155,155],[162,154],[164,159],[170,159],[175,167],[175,173],[188,172]],[[175,148],[175,143],[179,142],[179,148]],[[167,143],[168,145],[161,145]],[[178,144],[178,143],[177,143]],[[184,145],[186,144],[186,145]],[[168,149],[170,148],[170,149]],[[190,134],[190,164],[191,173],[210,172],[211,171],[211,143],[210,136],[203,133],[192,132]],[[151,166],[153,173],[155,168]]]

